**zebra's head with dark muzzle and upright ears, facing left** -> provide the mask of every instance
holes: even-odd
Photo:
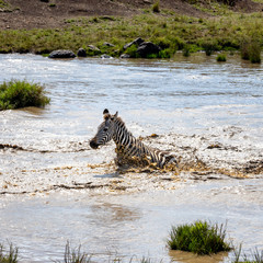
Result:
[[[118,113],[116,112],[114,115],[111,115],[107,108],[103,112],[104,122],[98,127],[96,135],[90,141],[90,146],[93,149],[98,149],[99,146],[105,145],[113,138],[115,133],[115,121],[117,118]]]

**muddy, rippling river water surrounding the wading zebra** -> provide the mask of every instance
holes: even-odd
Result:
[[[50,60],[0,55],[0,81],[45,84],[45,110],[0,112],[0,242],[20,262],[62,261],[67,240],[95,262],[231,262],[170,252],[172,225],[227,221],[228,239],[263,250],[263,66],[195,54],[174,60]],[[118,172],[114,145],[89,139],[107,107],[180,171]],[[151,136],[157,134],[158,136]]]

